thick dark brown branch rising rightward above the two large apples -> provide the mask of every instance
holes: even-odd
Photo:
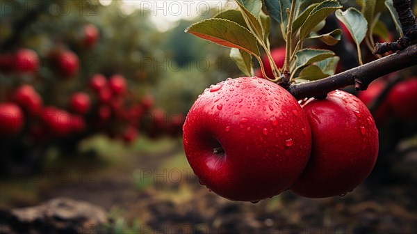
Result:
[[[345,72],[318,81],[295,84],[288,91],[298,100],[322,97],[338,88],[354,85],[357,90],[366,90],[374,79],[391,72],[417,65],[417,45],[411,45],[396,54],[352,68]]]

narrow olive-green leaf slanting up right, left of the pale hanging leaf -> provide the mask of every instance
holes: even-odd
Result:
[[[339,8],[342,8],[342,6],[335,0],[322,1],[322,3],[313,8],[300,28],[300,40],[304,40],[307,36],[309,36],[313,29],[316,28],[322,20],[325,20],[327,16]]]

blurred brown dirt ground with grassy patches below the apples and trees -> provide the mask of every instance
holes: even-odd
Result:
[[[155,146],[154,148],[158,148]],[[120,153],[115,161],[79,158],[50,164],[37,176],[2,179],[0,204],[37,205],[65,196],[108,211],[132,233],[416,233],[417,187],[373,180],[346,196],[309,199],[284,192],[243,203],[199,185],[181,143]],[[83,156],[88,157],[88,156]],[[124,229],[128,230],[128,229]]]

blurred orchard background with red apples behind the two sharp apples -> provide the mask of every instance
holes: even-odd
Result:
[[[395,41],[391,14],[377,2],[373,39]],[[283,192],[252,204],[199,185],[183,153],[183,121],[205,88],[243,73],[230,49],[184,30],[229,8],[236,3],[1,0],[0,233],[413,233],[416,65],[368,91],[345,88],[368,104],[379,130],[377,164],[353,192]],[[331,16],[322,32],[340,27]],[[359,66],[352,36],[339,36],[334,46],[305,45],[333,50],[336,73]],[[281,68],[285,44],[273,20],[270,43]],[[366,42],[361,52],[363,63],[379,58]],[[22,208],[62,197],[97,205],[104,216],[74,205],[67,216],[26,219]]]

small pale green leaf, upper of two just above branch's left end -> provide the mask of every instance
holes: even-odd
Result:
[[[334,56],[334,52],[327,49],[302,49],[297,51],[295,56],[297,57],[297,68],[298,70],[306,65],[322,61],[324,59]]]

